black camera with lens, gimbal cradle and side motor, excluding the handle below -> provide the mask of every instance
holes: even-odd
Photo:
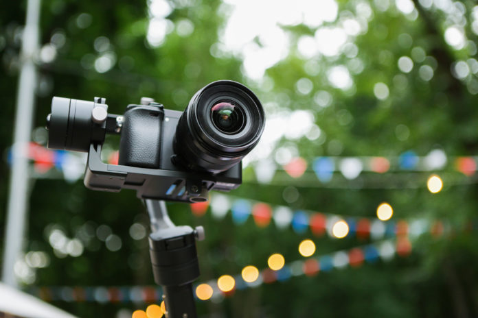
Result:
[[[264,130],[257,97],[242,84],[213,82],[184,112],[154,101],[108,114],[94,102],[54,97],[47,118],[48,147],[88,152],[84,184],[98,191],[137,191],[141,199],[206,201],[211,190],[242,182],[240,160]],[[118,164],[101,160],[105,134],[120,134]]]

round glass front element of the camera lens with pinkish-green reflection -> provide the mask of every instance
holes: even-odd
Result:
[[[244,111],[230,101],[216,103],[210,114],[214,126],[225,134],[236,134],[244,127]]]

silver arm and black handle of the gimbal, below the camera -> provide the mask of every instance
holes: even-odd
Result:
[[[145,199],[150,217],[149,236],[152,273],[163,287],[167,318],[196,318],[192,282],[199,277],[196,239],[204,239],[198,226],[176,226],[172,223],[164,201]]]

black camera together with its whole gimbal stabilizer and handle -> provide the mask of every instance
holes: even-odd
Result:
[[[84,184],[98,191],[129,188],[144,199],[152,233],[155,282],[163,286],[166,317],[196,317],[192,282],[199,276],[195,240],[204,230],[175,226],[167,201],[206,201],[210,190],[229,191],[242,180],[240,161],[257,145],[264,110],[249,88],[213,82],[192,97],[184,112],[152,99],[109,114],[103,98],[54,97],[47,117],[48,147],[88,152]],[[105,164],[105,134],[120,134],[119,164]]]

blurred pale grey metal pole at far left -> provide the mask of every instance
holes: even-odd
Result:
[[[38,54],[38,33],[40,1],[27,1],[27,21],[23,29],[21,48],[21,70],[16,115],[14,142],[12,146],[12,173],[8,194],[5,247],[3,251],[2,280],[13,287],[18,286],[14,265],[23,249],[26,210],[28,200],[28,143],[32,134],[34,95],[36,90],[36,56]]]

